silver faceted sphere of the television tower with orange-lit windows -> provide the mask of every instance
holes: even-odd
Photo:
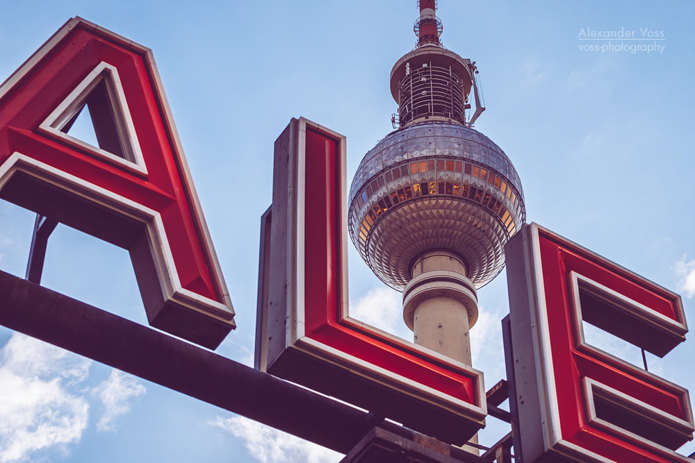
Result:
[[[362,258],[401,290],[419,255],[458,255],[476,288],[504,267],[504,246],[525,220],[516,169],[497,144],[457,121],[416,121],[360,162],[348,226]]]

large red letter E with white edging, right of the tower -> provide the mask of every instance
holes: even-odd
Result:
[[[536,224],[505,251],[523,462],[690,461],[674,451],[695,430],[687,390],[591,346],[582,324],[664,355],[685,340],[680,296]]]

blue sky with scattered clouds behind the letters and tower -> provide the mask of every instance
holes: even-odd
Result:
[[[154,51],[236,310],[217,352],[252,364],[260,217],[275,138],[292,117],[347,137],[347,175],[391,132],[393,63],[416,1],[22,1],[3,5],[0,81],[81,16]],[[448,49],[477,62],[475,128],[514,162],[527,221],[682,294],[695,326],[695,42],[691,1],[439,1]],[[584,49],[582,31],[660,33],[662,49]],[[653,44],[624,42],[632,44]],[[619,45],[614,43],[614,45]],[[34,214],[0,201],[0,269],[24,276]],[[350,314],[406,339],[400,295],[349,246]],[[146,324],[128,253],[65,226],[42,285]],[[480,289],[473,366],[505,378],[505,272]],[[599,346],[639,351],[599,331]],[[691,335],[692,336],[692,335]],[[689,337],[691,337],[689,336]],[[650,371],[695,390],[695,340]],[[639,364],[639,363],[638,363]],[[488,419],[482,444],[507,431]],[[695,451],[693,442],[682,453]],[[0,463],[337,462],[341,455],[0,328]]]

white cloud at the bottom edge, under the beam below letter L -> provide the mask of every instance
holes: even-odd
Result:
[[[238,439],[242,439],[251,455],[261,463],[325,463],[339,462],[343,455],[304,441],[286,432],[270,428],[256,421],[234,416],[218,416],[209,424],[217,426]]]

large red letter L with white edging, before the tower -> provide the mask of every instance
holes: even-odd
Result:
[[[256,365],[462,444],[484,426],[482,373],[349,317],[344,204],[345,137],[293,119],[275,144]]]

